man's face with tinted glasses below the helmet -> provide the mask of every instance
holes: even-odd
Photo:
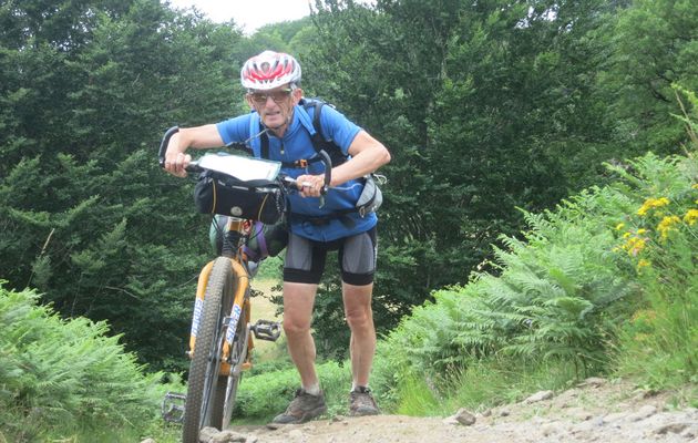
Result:
[[[302,96],[302,91],[286,84],[269,91],[252,91],[246,96],[249,105],[259,113],[261,123],[283,134],[294,116],[294,106]]]

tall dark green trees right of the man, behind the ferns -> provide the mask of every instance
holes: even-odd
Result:
[[[609,145],[596,75],[624,3],[317,2],[305,75],[393,158],[382,171],[381,331],[434,289],[466,282],[491,244],[523,228],[515,207],[553,207],[623,151]]]

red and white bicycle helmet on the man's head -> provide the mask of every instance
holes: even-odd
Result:
[[[240,81],[246,89],[258,91],[299,83],[300,64],[284,52],[264,51],[245,62],[240,70]]]

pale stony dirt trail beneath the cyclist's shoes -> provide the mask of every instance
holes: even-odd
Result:
[[[465,423],[465,424],[463,424]],[[209,431],[209,432],[206,432]],[[504,443],[698,442],[698,409],[671,406],[668,393],[588,379],[561,393],[538,392],[515,404],[451,418],[336,416],[285,426],[205,430],[206,443]]]

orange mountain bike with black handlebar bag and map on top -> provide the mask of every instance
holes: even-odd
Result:
[[[173,127],[163,137],[161,166],[176,132]],[[331,161],[326,153],[320,156],[326,168],[326,192]],[[267,210],[264,205],[271,199],[273,206],[284,206],[286,195],[296,189],[296,181],[279,171],[278,162],[219,154],[206,154],[187,167],[187,172],[199,173],[199,210],[211,205],[211,213],[218,214],[213,225],[219,230],[222,244],[219,256],[205,265],[198,277],[186,394],[168,392],[162,404],[166,421],[182,423],[184,443],[198,443],[199,432],[206,426],[224,430],[229,425],[243,372],[252,368],[253,336],[269,341],[279,338],[278,322],[257,320],[250,324],[250,280],[258,264],[248,259],[246,249],[255,236],[264,235],[256,229],[259,222],[273,220],[285,210]],[[212,186],[213,198],[207,198]],[[249,200],[257,203],[249,205]]]

